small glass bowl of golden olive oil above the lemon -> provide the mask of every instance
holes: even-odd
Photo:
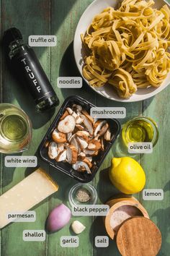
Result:
[[[149,117],[137,116],[123,125],[122,140],[127,146],[130,142],[152,142],[154,146],[158,141],[158,126]]]

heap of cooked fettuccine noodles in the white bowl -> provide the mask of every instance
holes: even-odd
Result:
[[[170,10],[153,0],[124,0],[97,14],[81,40],[83,75],[94,87],[112,85],[121,98],[138,88],[157,88],[170,71]]]

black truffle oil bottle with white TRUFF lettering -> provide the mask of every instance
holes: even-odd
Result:
[[[6,30],[4,42],[8,48],[9,64],[17,71],[17,75],[30,91],[37,111],[45,111],[57,106],[58,97],[35,52],[24,44],[20,31],[15,27]]]

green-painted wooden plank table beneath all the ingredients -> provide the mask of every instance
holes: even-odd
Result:
[[[85,84],[83,88],[76,90],[60,90],[57,88],[58,76],[79,76],[76,63],[73,58],[73,35],[76,25],[84,12],[84,9],[91,4],[92,0],[1,0],[0,1],[0,36],[9,27],[18,27],[27,42],[29,35],[57,35],[58,46],[52,48],[35,48],[42,67],[48,74],[61,103],[68,95],[81,95],[97,106],[125,106],[127,108],[127,119],[133,116],[150,116],[158,123],[160,137],[153,154],[138,156],[138,161],[146,171],[146,188],[164,189],[164,200],[143,201],[142,195],[135,195],[143,206],[148,210],[151,219],[161,229],[162,247],[160,256],[170,255],[170,181],[169,181],[169,145],[170,145],[170,87],[156,95],[156,97],[138,103],[116,103],[107,101],[90,90]],[[18,83],[9,74],[4,61],[4,52],[0,50],[0,85],[1,102],[14,103],[27,112],[32,119],[33,137],[30,150],[23,155],[34,155],[37,146],[45,135],[48,127],[60,106],[51,117],[49,114],[35,114],[35,108],[27,92],[19,87]],[[125,121],[125,120],[123,120]],[[110,160],[120,156],[119,142],[113,146],[102,164],[100,171],[91,184],[97,188],[99,195],[98,202],[106,202],[117,191],[112,187],[108,179],[107,168]],[[53,168],[41,163],[40,165],[49,171],[58,182],[60,189],[52,197],[35,207],[37,221],[35,223],[12,223],[0,231],[0,255],[1,256],[91,256],[91,255],[120,255],[115,242],[109,241],[109,247],[97,249],[94,246],[94,237],[106,235],[102,218],[79,217],[84,223],[86,231],[79,235],[79,248],[61,248],[60,237],[71,235],[69,225],[55,234],[47,236],[45,242],[23,242],[22,231],[24,229],[44,229],[45,219],[48,213],[61,202],[67,203],[68,190],[75,184],[73,179],[55,171]],[[5,168],[4,155],[1,155],[0,169],[0,193],[13,187],[24,176],[32,172],[31,168]],[[1,209],[0,209],[1,214]],[[74,218],[72,218],[73,220]],[[143,255],[147,256],[147,255]]]

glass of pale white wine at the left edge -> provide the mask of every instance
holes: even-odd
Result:
[[[0,104],[0,152],[19,153],[27,150],[32,138],[32,124],[21,108]]]

